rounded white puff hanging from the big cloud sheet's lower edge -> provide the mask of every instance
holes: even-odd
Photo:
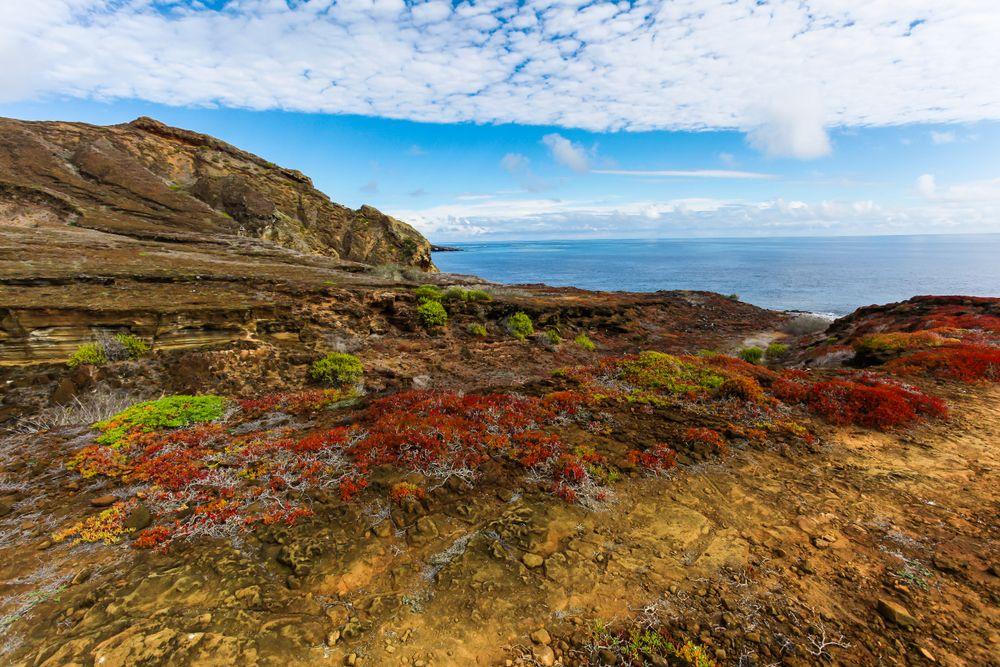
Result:
[[[807,97],[774,101],[754,116],[747,141],[762,153],[800,160],[830,154],[830,138],[818,102]]]

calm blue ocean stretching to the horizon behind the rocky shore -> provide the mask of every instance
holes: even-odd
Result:
[[[454,243],[449,273],[593,290],[709,290],[846,315],[917,294],[1000,296],[1000,234]]]

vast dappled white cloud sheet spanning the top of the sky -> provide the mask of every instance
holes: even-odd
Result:
[[[6,101],[729,128],[796,157],[829,151],[825,127],[1000,119],[995,0],[44,0],[3,12]],[[785,94],[770,108],[775,82]],[[802,91],[821,114],[786,108]]]

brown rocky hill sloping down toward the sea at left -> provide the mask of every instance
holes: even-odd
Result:
[[[256,238],[304,253],[434,270],[428,241],[301,172],[151,118],[97,127],[0,119],[0,225],[59,221],[140,239]]]

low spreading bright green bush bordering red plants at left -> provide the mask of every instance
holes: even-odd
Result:
[[[221,396],[164,396],[155,401],[136,403],[110,419],[94,424],[103,431],[97,443],[120,447],[133,430],[155,431],[180,428],[190,424],[215,421],[222,417],[226,399]]]

